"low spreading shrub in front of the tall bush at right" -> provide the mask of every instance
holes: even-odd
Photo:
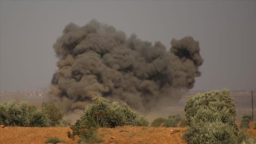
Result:
[[[247,136],[245,132],[239,132],[235,127],[217,120],[216,122],[193,123],[183,133],[183,138],[188,144],[240,144],[247,139]]]

